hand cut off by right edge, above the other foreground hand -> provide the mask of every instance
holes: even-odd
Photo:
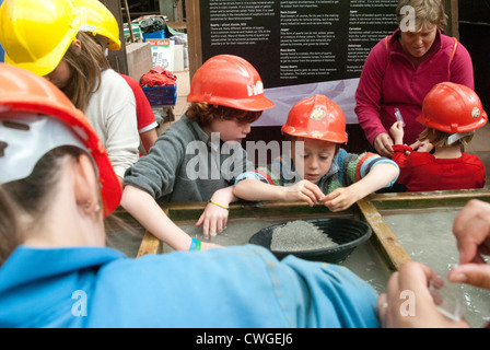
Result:
[[[448,279],[490,290],[490,266],[482,257],[490,254],[490,203],[470,200],[454,219],[453,233],[460,265]]]

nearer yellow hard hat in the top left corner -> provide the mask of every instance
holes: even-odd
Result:
[[[75,39],[80,24],[80,14],[71,1],[3,1],[0,43],[5,62],[38,75],[50,73]]]

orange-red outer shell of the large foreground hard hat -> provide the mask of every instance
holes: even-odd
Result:
[[[104,215],[107,217],[119,206],[122,188],[103,143],[84,114],[58,88],[27,70],[0,63],[0,119],[23,118],[24,114],[10,112],[40,114],[62,121],[68,127],[65,129],[67,133],[71,131],[72,135],[68,139],[78,139],[77,142],[90,152],[97,164]],[[25,143],[25,152],[40,151]],[[35,154],[37,160],[43,155]]]

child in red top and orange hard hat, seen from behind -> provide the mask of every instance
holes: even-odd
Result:
[[[393,160],[400,167],[397,182],[407,191],[482,188],[485,165],[478,156],[463,152],[475,130],[487,120],[481,101],[471,89],[451,82],[434,85],[417,120],[425,126],[417,152],[402,144],[404,127],[395,122],[389,132],[395,145]],[[429,150],[434,148],[434,152]]]

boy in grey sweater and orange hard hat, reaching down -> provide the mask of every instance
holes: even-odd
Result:
[[[187,102],[185,115],[126,172],[121,201],[147,230],[176,250],[214,245],[191,238],[159,202],[209,201],[196,224],[202,226],[205,236],[221,233],[229,205],[236,200],[234,180],[252,167],[240,141],[262,110],[275,105],[265,97],[256,69],[233,55],[214,56],[196,71]]]

